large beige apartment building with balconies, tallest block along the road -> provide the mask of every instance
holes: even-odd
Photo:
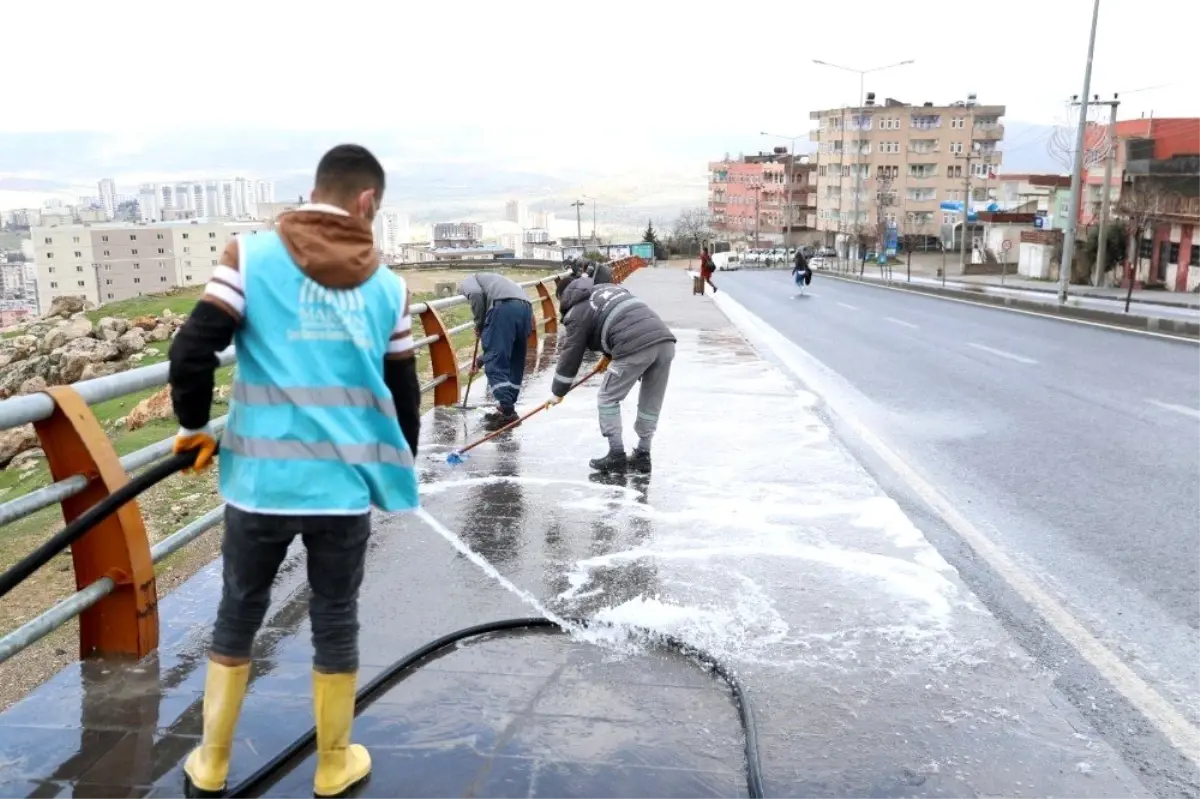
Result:
[[[1003,116],[1003,106],[979,104],[974,95],[914,106],[892,98],[876,104],[868,94],[862,108],[812,112],[817,228],[826,241],[850,242],[856,233],[875,239],[881,223],[908,235],[953,233],[968,180],[972,210],[995,188]]]

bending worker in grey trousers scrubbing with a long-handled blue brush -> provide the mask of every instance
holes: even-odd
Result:
[[[605,269],[608,272],[607,268]],[[605,371],[598,400],[600,434],[608,439],[608,453],[589,462],[596,471],[650,471],[650,440],[659,423],[662,397],[667,391],[676,337],[644,302],[629,289],[612,283],[596,283],[580,277],[562,286],[559,308],[566,326],[566,340],[558,355],[553,398],[558,404],[566,396],[587,350],[604,354]],[[611,361],[611,362],[610,362]],[[625,455],[620,403],[635,383],[637,390],[637,447]]]

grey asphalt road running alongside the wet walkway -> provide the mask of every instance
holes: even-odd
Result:
[[[815,359],[800,378],[830,407],[1200,725],[1200,346],[820,274],[805,296],[786,271],[716,282]],[[1002,576],[937,519],[918,524],[1157,793],[1200,795],[1194,765]]]

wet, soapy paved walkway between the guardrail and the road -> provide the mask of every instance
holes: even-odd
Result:
[[[458,468],[445,455],[479,434],[480,411],[440,409],[422,431],[433,517],[554,612],[670,633],[734,667],[768,797],[1145,795],[812,395],[682,272],[629,284],[679,337],[653,476],[589,475],[595,385]],[[550,379],[535,371],[523,404]],[[532,614],[418,518],[376,530],[364,680],[455,629]],[[234,782],[311,726],[302,573],[296,552],[257,643]],[[160,655],[72,666],[0,716],[0,797],[178,795],[217,588],[214,565],[163,601]],[[643,643],[462,645],[367,709],[355,737],[376,759],[362,795],[744,795],[727,691]],[[269,795],[310,795],[311,775],[301,764]]]

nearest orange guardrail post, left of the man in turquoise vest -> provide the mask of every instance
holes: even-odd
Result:
[[[53,480],[88,477],[88,486],[61,503],[68,524],[116,491],[128,475],[91,408],[71,386],[46,391],[54,413],[35,422]],[[71,546],[76,587],[102,577],[116,587],[79,617],[79,656],[144,657],[158,647],[158,589],[142,511],[127,503]]]

